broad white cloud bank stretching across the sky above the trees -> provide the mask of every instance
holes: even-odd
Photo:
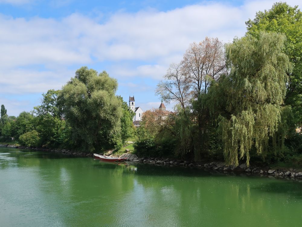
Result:
[[[19,5],[30,2],[0,0]],[[210,2],[166,12],[116,12],[101,23],[80,14],[61,19],[0,15],[0,87],[16,94],[46,92],[65,84],[79,65],[102,61],[113,77],[159,80],[170,63],[181,60],[191,42],[206,36],[224,42],[241,37],[245,21],[274,2],[246,1],[241,6]],[[300,0],[287,2],[298,5]]]

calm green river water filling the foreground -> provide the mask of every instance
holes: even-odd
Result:
[[[302,183],[0,147],[0,226],[302,226]]]

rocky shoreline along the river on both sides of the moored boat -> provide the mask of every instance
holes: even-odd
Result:
[[[93,157],[92,153],[77,152],[66,149],[48,149],[48,148],[37,148],[37,147],[27,147],[27,146],[3,146],[0,147],[11,147],[24,150],[36,150],[36,151],[47,151],[52,153],[63,153],[68,155],[74,155],[79,157]],[[244,173],[247,176],[268,176],[269,178],[278,178],[278,179],[292,179],[302,182],[302,172],[294,168],[282,168],[282,169],[273,169],[269,167],[259,167],[259,166],[249,166],[247,167],[245,163],[240,164],[239,166],[226,165],[224,162],[213,161],[210,163],[201,163],[185,160],[176,160],[173,158],[138,158],[136,160],[131,160],[134,163],[142,164],[155,164],[157,166],[182,166],[203,169],[207,171],[215,171],[218,173],[223,173],[225,175],[230,174],[242,174]]]

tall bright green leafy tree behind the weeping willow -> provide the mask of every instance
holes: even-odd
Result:
[[[259,37],[259,31],[284,33],[287,37],[284,53],[293,64],[285,104],[291,105],[294,123],[302,126],[302,12],[298,6],[275,3],[270,10],[257,12],[254,20],[246,21],[247,34]]]

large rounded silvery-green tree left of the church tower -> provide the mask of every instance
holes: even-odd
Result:
[[[94,152],[122,146],[121,101],[117,81],[103,71],[82,67],[62,88],[58,107],[71,129],[74,147]]]

